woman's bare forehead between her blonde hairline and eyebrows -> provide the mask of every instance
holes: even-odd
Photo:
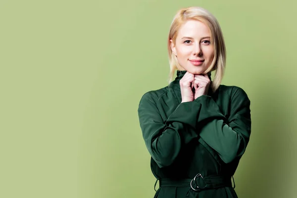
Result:
[[[198,20],[187,20],[179,29],[177,38],[182,37],[210,37],[211,31],[209,27]]]

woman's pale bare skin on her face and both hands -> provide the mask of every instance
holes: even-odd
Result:
[[[172,53],[186,74],[180,80],[182,102],[193,101],[207,95],[210,80],[204,74],[214,57],[211,31],[207,25],[198,20],[187,20],[179,29],[175,43],[171,42]],[[194,65],[193,60],[200,60]],[[195,88],[195,93],[192,88]]]

